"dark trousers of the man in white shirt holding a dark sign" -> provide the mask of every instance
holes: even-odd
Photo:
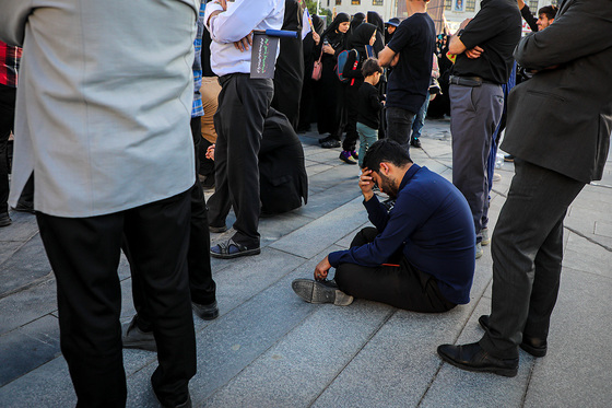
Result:
[[[229,208],[236,222],[233,236],[248,248],[259,247],[259,148],[263,123],[274,93],[270,79],[250,79],[248,73],[221,77],[216,129],[215,193],[209,199],[209,222],[225,225]]]

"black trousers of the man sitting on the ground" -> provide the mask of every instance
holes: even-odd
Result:
[[[377,234],[375,228],[365,228],[355,235],[351,246],[370,243]],[[399,265],[365,267],[341,264],[334,279],[344,293],[407,311],[439,313],[456,306],[440,293],[436,279],[412,266],[403,254],[390,263]]]

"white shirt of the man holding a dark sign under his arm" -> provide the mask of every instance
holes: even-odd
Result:
[[[211,68],[219,77],[228,73],[249,73],[251,50],[240,53],[234,43],[254,30],[281,30],[285,13],[284,0],[236,0],[227,2],[227,10],[209,18],[220,4],[207,4],[204,22],[211,33]],[[276,57],[279,55],[276,50]]]

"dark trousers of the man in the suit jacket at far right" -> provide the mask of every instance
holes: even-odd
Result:
[[[546,339],[561,280],[563,219],[584,186],[515,159],[515,176],[491,240],[491,317],[480,340],[490,353],[517,358],[523,333]]]

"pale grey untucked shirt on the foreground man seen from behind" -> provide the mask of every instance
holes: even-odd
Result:
[[[189,189],[199,0],[0,0],[0,38],[23,44],[9,202],[83,218]]]

